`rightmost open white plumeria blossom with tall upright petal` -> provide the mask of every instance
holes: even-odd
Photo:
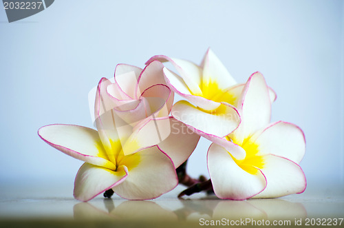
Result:
[[[305,154],[304,134],[292,123],[270,123],[268,86],[259,72],[248,79],[237,110],[239,127],[224,138],[210,137],[207,161],[215,194],[244,200],[303,192],[306,180],[298,164]]]

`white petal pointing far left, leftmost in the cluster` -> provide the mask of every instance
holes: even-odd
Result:
[[[77,125],[47,125],[39,136],[61,152],[87,163],[115,169],[109,161],[96,130]],[[115,163],[116,164],[116,163]]]

